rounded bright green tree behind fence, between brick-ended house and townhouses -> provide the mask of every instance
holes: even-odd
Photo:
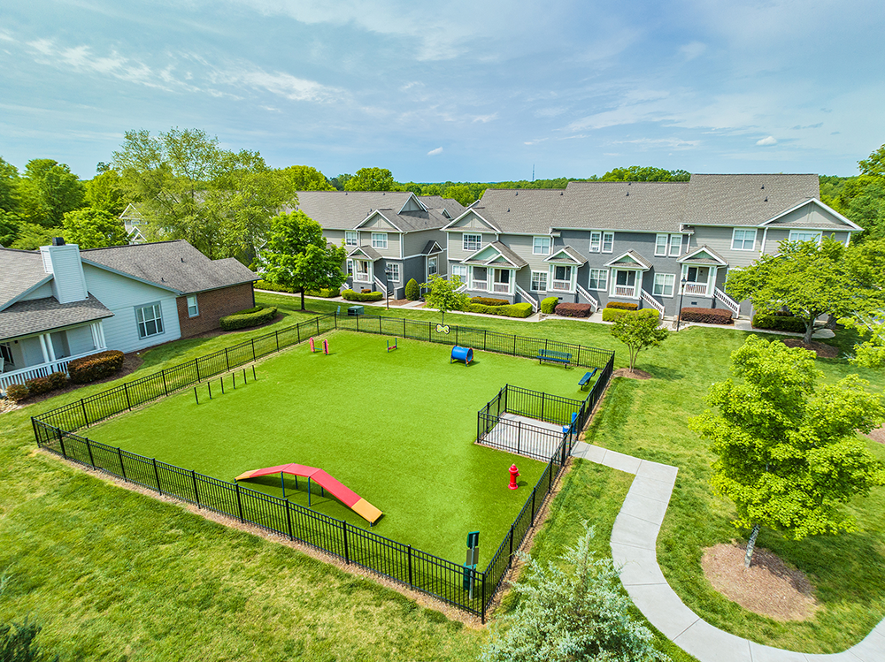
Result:
[[[343,285],[347,275],[341,265],[346,257],[344,247],[327,244],[319,223],[303,211],[293,211],[271,219],[270,237],[260,263],[268,281],[301,292],[304,310],[304,290]]]

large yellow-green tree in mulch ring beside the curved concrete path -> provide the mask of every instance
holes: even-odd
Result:
[[[815,390],[814,354],[750,336],[731,355],[732,374],[713,384],[707,410],[689,427],[717,455],[713,488],[736,506],[735,526],[750,529],[750,567],[765,526],[794,540],[855,528],[841,506],[885,484],[885,468],[857,432],[885,421],[881,396],[856,375]]]

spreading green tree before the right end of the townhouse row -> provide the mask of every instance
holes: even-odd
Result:
[[[856,305],[858,289],[846,274],[844,250],[831,237],[820,247],[813,241],[781,241],[776,255],[762,255],[749,267],[729,271],[726,292],[737,301],[750,299],[760,312],[787,308],[803,320],[807,345],[818,317],[843,316]]]

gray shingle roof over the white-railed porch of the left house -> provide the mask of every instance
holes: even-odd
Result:
[[[19,338],[112,316],[91,294],[89,299],[71,303],[58,303],[54,297],[17,301],[0,312],[0,339]]]

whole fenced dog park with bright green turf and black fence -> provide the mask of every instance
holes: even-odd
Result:
[[[611,376],[613,354],[444,329],[320,316],[35,417],[35,435],[69,459],[484,617]],[[472,361],[451,362],[453,346],[473,349]],[[539,360],[549,353],[579,369]],[[589,392],[579,384],[587,369],[596,369]],[[334,477],[383,516],[371,526],[291,472],[234,480],[292,463]],[[484,571],[462,563],[475,530]]]

